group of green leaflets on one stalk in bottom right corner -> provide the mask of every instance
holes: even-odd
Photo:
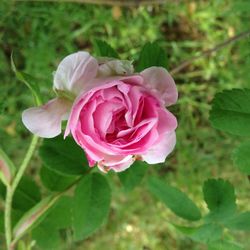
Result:
[[[237,211],[236,196],[232,184],[223,179],[208,179],[203,184],[203,196],[209,209],[202,216],[197,205],[181,190],[151,177],[149,191],[177,216],[196,222],[194,226],[171,223],[178,231],[193,241],[206,244],[212,249],[243,249],[232,242],[228,230],[250,231],[250,211]]]

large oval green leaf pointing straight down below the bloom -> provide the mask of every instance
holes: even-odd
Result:
[[[110,208],[111,190],[104,176],[89,174],[77,185],[73,198],[75,240],[83,240],[105,221]]]

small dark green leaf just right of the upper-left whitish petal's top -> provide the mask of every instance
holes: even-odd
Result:
[[[93,41],[94,51],[97,56],[119,58],[117,52],[105,41],[95,39]]]

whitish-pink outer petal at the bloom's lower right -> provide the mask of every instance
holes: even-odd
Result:
[[[175,132],[166,133],[158,143],[142,155],[142,158],[149,164],[165,162],[166,157],[173,151],[175,143]]]

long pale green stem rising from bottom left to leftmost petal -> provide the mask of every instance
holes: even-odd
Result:
[[[12,240],[11,208],[12,208],[13,195],[35,151],[38,139],[39,138],[37,136],[33,136],[28,151],[23,159],[20,168],[18,169],[12,184],[9,185],[6,190],[4,223],[5,223],[5,238],[6,238],[7,250],[11,250],[11,245],[10,245]]]

